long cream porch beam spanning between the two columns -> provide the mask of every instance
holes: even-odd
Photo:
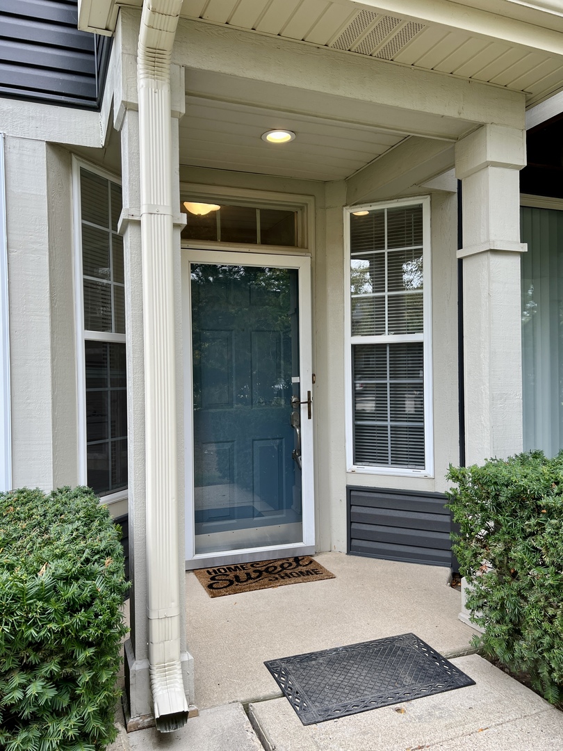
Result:
[[[444,131],[444,119],[465,124],[465,132],[485,122],[524,125],[525,96],[519,92],[226,26],[181,19],[173,62],[224,74],[233,83],[240,79],[277,86],[274,100],[280,87],[290,94],[292,89],[305,91],[311,98],[322,94],[334,98],[336,112],[351,108],[348,116],[353,116],[354,103],[376,105],[382,115],[394,113],[397,123],[413,134],[419,116],[431,116],[437,134]],[[260,104],[280,106],[268,101],[267,86],[260,89]],[[377,113],[373,115],[376,127]]]

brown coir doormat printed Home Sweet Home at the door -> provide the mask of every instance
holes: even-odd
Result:
[[[334,574],[321,566],[311,556],[295,556],[275,561],[235,563],[232,566],[216,566],[212,569],[194,571],[209,597],[236,595],[251,590],[266,590],[284,584],[299,584],[303,581],[334,579]]]

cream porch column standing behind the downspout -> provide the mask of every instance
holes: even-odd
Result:
[[[122,45],[122,57],[131,65],[123,66],[116,80],[114,98],[114,126],[121,134],[123,211],[120,231],[124,239],[125,255],[125,315],[128,368],[128,447],[129,447],[129,556],[131,578],[131,633],[125,643],[125,676],[128,698],[128,730],[154,725],[149,676],[149,628],[147,618],[147,550],[146,550],[146,412],[143,321],[143,264],[140,228],[140,143],[137,112],[136,43],[140,14],[124,11],[120,14],[116,44]],[[170,194],[174,217],[173,254],[173,336],[176,349],[176,478],[179,499],[177,532],[179,541],[178,570],[180,572],[179,631],[180,659],[186,699],[195,713],[193,658],[187,651],[185,638],[184,553],[184,466],[183,466],[183,369],[182,369],[182,300],[180,274],[180,230],[183,225],[179,213],[179,118],[185,110],[183,69],[171,69],[171,161],[172,185]],[[156,551],[158,553],[158,551]]]

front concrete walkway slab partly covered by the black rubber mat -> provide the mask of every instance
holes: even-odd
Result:
[[[250,704],[266,751],[550,751],[563,713],[478,655],[452,659],[475,686],[302,725],[285,698]]]

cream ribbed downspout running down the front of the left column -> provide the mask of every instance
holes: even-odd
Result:
[[[188,719],[180,663],[170,129],[170,57],[181,8],[182,0],[143,0],[137,56],[149,670],[161,732],[181,728]]]

